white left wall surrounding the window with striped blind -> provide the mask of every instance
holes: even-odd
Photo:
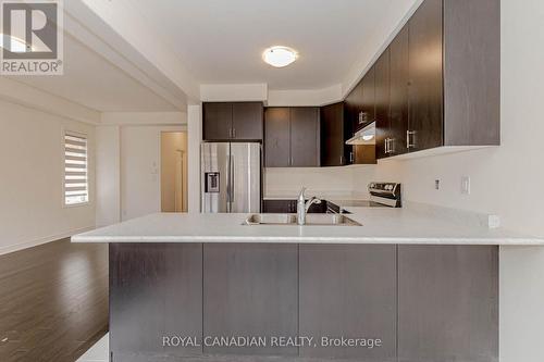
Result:
[[[95,129],[84,123],[0,101],[0,253],[95,226]],[[89,140],[90,202],[64,207],[63,129]]]

